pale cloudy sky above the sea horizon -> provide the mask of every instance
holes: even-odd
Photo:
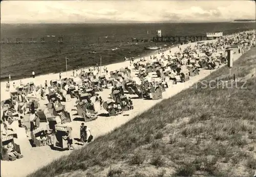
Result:
[[[255,19],[254,1],[2,1],[1,23],[220,22]]]

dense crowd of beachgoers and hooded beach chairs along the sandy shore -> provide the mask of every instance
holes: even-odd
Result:
[[[156,55],[131,58],[102,70],[96,65],[38,77],[33,71],[32,78],[20,81],[12,81],[9,75],[9,81],[1,84],[1,160],[43,165],[65,155],[60,150],[91,142],[100,135],[97,131],[109,132],[103,131],[108,129],[105,123],[115,124],[117,119],[106,117],[132,118],[157,103],[147,100],[168,97],[170,87],[180,89],[182,83],[202,79],[204,70],[225,65],[230,49],[234,56],[241,56],[251,47],[255,47],[255,31],[159,50]],[[60,151],[60,155],[50,151]],[[36,156],[40,159],[32,160]]]

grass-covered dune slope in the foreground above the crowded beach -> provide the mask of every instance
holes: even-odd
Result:
[[[232,72],[247,80],[247,89],[203,89],[198,84],[28,176],[252,176],[256,169],[255,48],[234,62]],[[227,66],[206,80],[217,78],[228,80]]]

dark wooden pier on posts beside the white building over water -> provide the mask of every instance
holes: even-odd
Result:
[[[154,42],[195,42],[195,41],[202,41],[208,40],[206,36],[156,36],[153,37]]]

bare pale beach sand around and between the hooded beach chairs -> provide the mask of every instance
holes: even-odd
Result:
[[[187,47],[188,45],[194,46],[195,43],[189,43],[182,45],[182,49]],[[178,47],[174,47],[171,49],[172,53],[179,51]],[[235,52],[235,51],[234,51]],[[162,53],[161,53],[162,54]],[[161,55],[160,54],[160,55]],[[164,55],[169,54],[169,49],[167,49],[164,52]],[[233,55],[234,60],[237,60],[241,54]],[[160,58],[160,56],[158,56]],[[147,58],[145,57],[147,60]],[[135,62],[137,62],[139,59],[136,59]],[[107,65],[109,72],[112,70],[119,69],[121,67],[128,66],[130,69],[132,69],[132,74],[135,74],[134,67],[130,66],[130,61],[125,61],[122,63],[115,63]],[[224,66],[224,65],[222,65]],[[101,69],[103,71],[103,67]],[[203,79],[207,75],[209,75],[214,70],[206,70],[201,69],[200,74],[196,75],[195,77],[190,77],[190,80],[184,83],[178,83],[177,85],[172,85],[171,82],[169,82],[169,88],[166,89],[165,92],[163,92],[163,99],[172,97],[173,95],[179,93],[180,91],[189,88],[194,83],[198,82],[199,80]],[[68,71],[68,74],[66,75],[66,72],[62,73],[62,77],[69,77],[72,75],[72,71]],[[47,75],[39,75],[35,77],[35,79],[23,79],[22,82],[24,84],[33,81],[35,85],[42,85],[44,86],[44,83],[46,80],[48,80],[48,83],[50,80],[59,79],[59,73],[55,74],[47,74]],[[14,81],[16,85],[18,85],[18,81]],[[12,85],[13,81],[11,82]],[[1,100],[7,99],[9,97],[9,92],[6,90],[6,82],[1,83]],[[104,89],[102,92],[98,92],[99,95],[103,98],[103,100],[107,100],[110,97],[111,89]],[[135,97],[136,95],[130,95],[131,97]],[[120,127],[122,124],[126,123],[127,121],[134,118],[136,115],[141,114],[145,110],[153,107],[155,104],[161,102],[162,99],[159,100],[144,100],[144,99],[133,99],[134,104],[134,110],[126,111],[121,115],[115,116],[115,117],[102,117],[99,116],[96,120],[86,122],[85,124],[91,129],[91,133],[94,136],[94,139],[97,138],[100,135],[104,135],[106,133],[109,133],[113,131],[114,129]],[[66,123],[65,125],[71,126],[72,131],[72,138],[79,138],[80,137],[80,124],[81,121],[74,121],[73,119],[77,116],[76,111],[72,110],[75,109],[75,99],[72,99],[71,102],[63,103],[66,105],[67,111],[70,112],[72,122]],[[141,107],[140,105],[143,105]],[[72,111],[71,111],[72,110]],[[99,113],[104,113],[104,110],[99,110]],[[127,116],[123,116],[126,114]],[[15,126],[15,125],[14,125]],[[16,130],[18,133],[18,139],[15,139],[15,142],[20,145],[20,149],[22,151],[22,154],[24,155],[24,158],[18,159],[15,161],[1,161],[1,176],[25,176],[32,171],[50,163],[51,161],[60,158],[63,155],[68,155],[72,152],[72,150],[66,150],[66,151],[57,151],[52,150],[49,146],[42,146],[42,147],[31,147],[29,138],[26,137],[25,131],[22,128],[18,128],[16,125]],[[81,145],[76,144],[77,141],[73,141],[75,148],[81,148]]]

